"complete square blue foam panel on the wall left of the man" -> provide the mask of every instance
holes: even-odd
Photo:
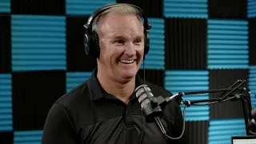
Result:
[[[66,70],[66,17],[12,15],[12,70]]]

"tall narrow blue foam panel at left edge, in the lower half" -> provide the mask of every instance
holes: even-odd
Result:
[[[11,74],[0,74],[0,132],[13,130]]]

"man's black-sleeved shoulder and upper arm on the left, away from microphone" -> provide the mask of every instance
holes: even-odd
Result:
[[[86,98],[89,99],[89,97],[86,96],[88,91],[87,85],[87,81],[83,82],[62,95],[53,103],[46,116],[42,134],[43,143],[56,143],[54,141],[61,141],[63,138],[66,138],[67,141],[71,141],[73,137],[76,137],[78,127],[81,125],[78,116],[81,115],[82,112],[90,111],[87,107],[87,109],[83,109],[82,107],[88,106],[86,102],[89,102],[86,100]],[[83,109],[82,112],[78,111],[81,109]]]

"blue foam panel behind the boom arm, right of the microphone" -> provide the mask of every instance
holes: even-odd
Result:
[[[207,70],[166,70],[166,90],[178,92],[209,90]],[[209,94],[193,94],[182,97],[184,100],[209,99]],[[182,110],[184,106],[181,106]],[[186,108],[186,121],[209,120],[210,106],[190,106]]]

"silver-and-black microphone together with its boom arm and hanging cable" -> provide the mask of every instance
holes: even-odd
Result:
[[[245,80],[238,80],[237,82],[234,82],[232,86],[230,86],[228,89],[219,89],[219,90],[203,90],[203,91],[192,91],[192,92],[179,92],[178,94],[174,94],[170,97],[162,98],[162,96],[154,97],[154,94],[152,94],[152,91],[150,90],[150,87],[146,84],[143,84],[141,86],[138,86],[134,90],[134,94],[138,98],[138,102],[142,108],[142,112],[146,118],[146,122],[157,122],[159,128],[162,130],[162,134],[164,134],[167,138],[170,139],[179,139],[182,138],[182,135],[185,131],[185,111],[186,107],[189,107],[190,105],[208,105],[208,104],[214,104],[218,102],[226,102],[229,100],[238,100],[240,99],[242,101],[242,106],[244,112],[246,112],[246,106],[245,102],[247,101],[247,94],[250,94],[250,90],[246,87],[242,86],[245,84]],[[236,92],[238,90],[238,92]],[[195,101],[182,101],[182,96],[187,94],[206,94],[206,93],[218,93],[222,92],[222,94],[217,98],[210,98],[210,99],[202,99],[202,100],[195,100]],[[235,94],[233,94],[235,93]],[[238,94],[237,94],[238,93]],[[232,96],[232,97],[231,97]],[[185,105],[183,110],[183,128],[182,128],[182,134],[178,138],[171,138],[168,134],[166,134],[166,130],[164,129],[164,126],[162,126],[162,122],[160,121],[160,118],[162,118],[163,110],[165,109],[166,105],[171,102],[171,100],[175,99],[175,102],[178,103],[178,105]],[[203,102],[203,104],[198,104]],[[205,102],[208,102],[205,104]],[[251,121],[247,125],[247,114],[244,114],[245,122],[246,122],[246,132],[250,134],[256,135],[256,107],[251,110],[250,100],[248,102],[249,110],[250,111],[250,119]],[[248,112],[247,112],[248,113]]]

